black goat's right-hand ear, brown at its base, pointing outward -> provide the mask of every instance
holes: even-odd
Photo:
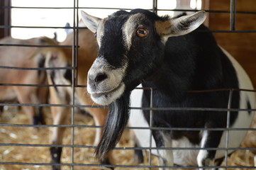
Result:
[[[206,12],[199,11],[189,16],[181,16],[169,21],[157,21],[155,27],[157,33],[166,41],[169,37],[190,33],[204,23],[205,19]]]

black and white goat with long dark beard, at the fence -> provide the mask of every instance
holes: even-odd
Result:
[[[204,11],[190,16],[160,17],[150,11],[118,11],[100,19],[82,12],[86,26],[96,33],[99,54],[88,73],[87,91],[94,102],[109,105],[106,129],[96,148],[102,158],[116,146],[129,118],[130,92],[136,86],[155,89],[157,108],[227,108],[229,91],[189,93],[210,89],[253,89],[242,67],[219,47],[201,25]],[[194,31],[195,30],[195,31]],[[142,98],[142,99],[140,99]],[[137,106],[150,107],[150,91],[135,96]],[[132,100],[133,104],[135,100]],[[252,108],[255,94],[233,91],[231,108]],[[149,111],[131,111],[130,124],[149,125]],[[225,111],[154,111],[152,126],[163,128],[226,128]],[[230,113],[230,128],[248,128],[253,113]],[[134,130],[141,147],[149,147],[149,130]],[[148,133],[148,134],[147,134]],[[201,147],[193,150],[153,151],[165,166],[213,166],[225,151],[226,131],[152,130],[153,147]],[[228,147],[239,147],[245,130],[229,132]],[[228,150],[228,153],[232,151]]]

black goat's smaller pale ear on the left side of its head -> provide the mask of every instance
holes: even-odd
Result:
[[[85,26],[91,30],[92,33],[96,33],[99,23],[101,22],[101,18],[97,18],[95,16],[90,16],[88,13],[81,11],[82,21],[84,21]]]

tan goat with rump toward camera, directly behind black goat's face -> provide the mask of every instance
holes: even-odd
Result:
[[[73,35],[69,34],[67,39],[60,43],[60,45],[72,45]],[[94,62],[97,47],[94,34],[89,30],[79,30],[79,50],[78,50],[78,69],[77,69],[77,84],[87,84],[87,72]],[[72,64],[72,48],[47,48],[43,50],[46,60],[45,67],[70,67]],[[71,69],[48,69],[48,84],[72,84],[72,70]],[[88,96],[84,88],[75,88],[75,102],[85,106],[96,105]],[[50,103],[51,104],[70,104],[72,98],[72,88],[70,86],[50,86]],[[107,109],[104,108],[82,108],[94,118],[95,125],[104,126]],[[65,124],[65,119],[70,113],[69,108],[65,107],[51,107],[52,119],[54,125]],[[61,145],[62,137],[65,128],[52,128],[52,145]],[[99,143],[102,134],[101,128],[96,128],[96,137],[94,145]],[[62,148],[51,147],[50,153],[52,155],[52,163],[60,163]],[[108,156],[109,163],[113,164],[113,159]],[[107,163],[108,163],[107,162]],[[106,163],[106,162],[105,162]],[[52,166],[52,169],[60,169],[60,166]]]

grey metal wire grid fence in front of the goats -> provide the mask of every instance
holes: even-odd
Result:
[[[230,13],[230,30],[211,30],[211,32],[213,33],[256,33],[256,30],[236,30],[235,29],[235,21],[236,21],[236,13],[250,13],[250,14],[256,14],[255,12],[246,12],[246,11],[236,11],[236,0],[230,0],[230,11],[211,11],[211,10],[206,10],[206,12],[208,13]],[[30,7],[15,7],[15,6],[4,6],[2,8],[30,8]],[[47,8],[47,7],[45,7]],[[61,8],[61,7],[60,7]],[[99,164],[74,164],[74,147],[79,147],[79,148],[92,148],[94,149],[95,147],[93,146],[80,146],[80,145],[74,145],[74,128],[80,127],[80,128],[103,128],[103,127],[97,127],[97,126],[91,126],[91,125],[74,125],[74,108],[82,108],[82,107],[94,107],[94,106],[81,106],[81,105],[77,105],[74,103],[74,91],[75,88],[83,88],[86,86],[81,86],[79,84],[77,84],[77,53],[78,53],[78,30],[79,30],[79,18],[78,18],[78,12],[80,8],[88,8],[88,7],[81,7],[79,6],[79,0],[74,0],[74,6],[70,7],[73,9],[73,18],[74,18],[74,23],[72,27],[69,27],[69,29],[73,30],[73,45],[71,46],[66,46],[66,47],[70,47],[72,48],[72,67],[62,67],[59,69],[72,69],[72,103],[69,105],[52,105],[52,104],[33,104],[33,103],[26,103],[26,104],[21,104],[21,103],[0,103],[0,106],[40,106],[40,107],[50,107],[50,106],[61,106],[61,107],[69,107],[72,108],[72,120],[71,120],[71,125],[16,125],[16,124],[4,124],[1,123],[1,126],[13,126],[13,127],[35,127],[35,128],[51,128],[51,127],[65,127],[65,128],[71,128],[71,136],[72,136],[72,144],[71,145],[27,145],[27,144],[4,144],[0,142],[0,146],[21,146],[21,147],[70,147],[72,149],[72,154],[70,155],[70,157],[72,157],[72,162],[70,164],[57,164],[57,165],[61,165],[61,166],[70,166],[70,169],[74,169],[74,166],[101,166]],[[104,8],[106,9],[106,8]],[[116,8],[108,8],[108,9],[116,9]],[[129,10],[129,9],[127,9]],[[152,8],[150,9],[152,11],[154,11],[155,13],[157,13],[157,11],[160,11],[160,9],[157,8],[157,0],[152,0]],[[161,9],[162,10],[162,9]],[[162,10],[163,11],[163,10]],[[165,10],[167,11],[167,10]],[[184,9],[174,9],[171,11],[196,11],[196,10],[184,10]],[[0,26],[1,29],[6,29],[6,28],[17,28],[16,26]],[[24,27],[24,28],[35,28],[35,27]],[[67,27],[36,27],[36,28],[67,28]],[[13,45],[13,44],[0,44],[0,46],[17,46],[17,45]],[[23,47],[28,47],[28,45],[19,45],[19,46],[23,46]],[[31,46],[31,45],[30,45]],[[60,46],[48,46],[48,45],[32,45],[32,47],[60,47]],[[0,64],[1,65],[1,64]],[[4,67],[4,66],[0,66],[0,69],[29,69],[29,70],[46,70],[46,69],[55,69],[55,68],[23,68],[23,67]],[[36,85],[36,84],[0,84],[0,86],[66,86],[66,85],[62,85],[62,84],[57,84],[57,85]],[[147,89],[152,91],[154,89]],[[150,108],[130,108],[130,109],[144,109],[144,110],[150,110],[150,120],[152,120],[152,114],[153,111],[156,110],[174,110],[174,111],[184,111],[184,109],[186,109],[186,111],[226,111],[228,113],[228,122],[227,122],[227,127],[226,128],[218,128],[218,129],[207,129],[207,130],[227,130],[228,132],[230,130],[256,130],[255,128],[247,128],[247,129],[231,129],[229,128],[229,116],[230,116],[230,112],[231,111],[244,111],[245,109],[233,109],[230,108],[230,103],[231,103],[231,98],[232,98],[232,94],[233,91],[238,90],[238,89],[226,89],[228,91],[230,91],[230,96],[229,96],[229,101],[228,101],[228,106],[227,108],[154,108],[154,107],[150,107]],[[239,89],[239,90],[246,90],[246,89]],[[248,90],[246,90],[248,91]],[[256,92],[256,91],[252,91],[252,92]],[[152,102],[153,98],[151,97],[151,102]],[[247,111],[247,110],[246,110]],[[250,109],[250,111],[256,111],[255,108]],[[152,121],[150,121],[151,123]],[[126,129],[150,129],[150,130],[206,130],[205,128],[154,128],[152,127],[152,125],[150,124],[150,128],[140,128],[140,127],[136,127],[136,128],[130,128],[127,127]],[[152,134],[151,134],[152,135]],[[150,137],[151,138],[151,137]],[[204,148],[204,149],[224,149],[226,150],[226,158],[225,158],[225,162],[226,162],[226,166],[224,166],[223,168],[225,169],[255,169],[256,166],[227,166],[227,157],[228,157],[228,149],[232,149],[232,150],[256,150],[255,148],[228,148],[228,137],[226,138],[226,148]],[[154,147],[148,147],[148,148],[142,148],[142,147],[116,147],[116,149],[148,149],[149,151],[151,151],[152,149],[157,149]],[[161,148],[161,149],[201,149],[201,148]],[[151,152],[150,152],[151,153]],[[176,169],[177,167],[169,167],[169,166],[152,166],[151,165],[151,154],[149,154],[149,164],[148,165],[136,165],[136,166],[128,166],[128,165],[103,165],[103,166],[107,166],[107,167],[123,167],[123,168],[148,168],[148,169],[152,169],[152,168],[169,168],[169,169]],[[56,164],[43,164],[43,163],[21,163],[21,162],[0,162],[0,164],[16,164],[16,165],[40,165],[40,166],[52,166],[52,165],[56,165]],[[179,167],[179,169],[196,169],[197,167]],[[205,167],[206,168],[206,167]],[[220,166],[216,166],[216,168],[220,168]]]

